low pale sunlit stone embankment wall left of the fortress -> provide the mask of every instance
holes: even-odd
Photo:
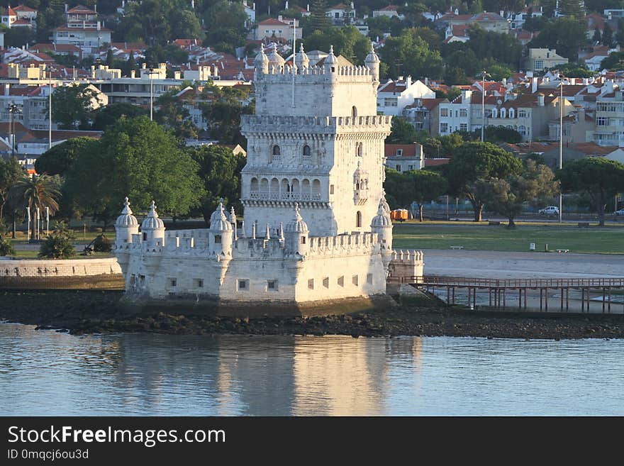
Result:
[[[0,260],[4,289],[123,289],[114,257],[74,260]]]

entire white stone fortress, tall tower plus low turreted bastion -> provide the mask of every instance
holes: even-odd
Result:
[[[152,203],[139,223],[128,201],[116,222],[126,301],[217,314],[301,315],[387,303],[386,280],[413,279],[422,254],[391,249],[379,58],[351,65],[330,49],[296,74],[277,53],[255,59],[255,115],[243,116],[245,222],[219,204],[210,228],[165,231]],[[292,96],[294,105],[284,105]],[[289,99],[286,99],[288,101]]]

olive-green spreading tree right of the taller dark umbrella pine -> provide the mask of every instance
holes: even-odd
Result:
[[[559,182],[546,165],[526,160],[523,172],[511,172],[505,178],[478,179],[477,192],[490,211],[508,218],[508,227],[515,228],[515,218],[526,203],[540,204],[559,192]]]

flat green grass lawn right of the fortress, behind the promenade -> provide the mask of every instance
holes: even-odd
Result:
[[[453,223],[403,223],[394,227],[393,248],[528,251],[569,249],[570,253],[624,254],[624,226],[579,228],[556,224],[518,224],[517,228]]]

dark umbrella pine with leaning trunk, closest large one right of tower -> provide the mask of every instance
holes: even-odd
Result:
[[[506,178],[519,174],[522,162],[492,143],[464,143],[452,155],[447,174],[450,191],[463,195],[472,204],[474,221],[481,221],[485,199],[480,180]]]

